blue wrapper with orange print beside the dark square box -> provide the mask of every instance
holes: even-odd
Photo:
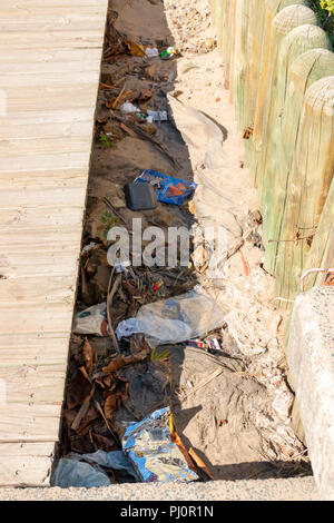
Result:
[[[173,205],[183,205],[197,187],[195,181],[181,180],[149,169],[144,170],[135,181],[143,181],[153,185],[158,201]]]

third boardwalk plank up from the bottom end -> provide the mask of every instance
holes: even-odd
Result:
[[[6,386],[7,404],[61,405],[66,367],[67,362],[51,366],[1,366],[0,383]]]

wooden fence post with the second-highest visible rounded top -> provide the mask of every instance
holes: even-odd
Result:
[[[277,69],[273,78],[272,105],[268,111],[267,140],[264,144],[259,168],[263,170],[263,184],[259,198],[264,216],[265,269],[274,274],[276,266],[277,240],[281,239],[281,225],[285,207],[288,170],[285,169],[285,149],[283,115],[288,92],[288,72],[295,58],[304,51],[316,48],[328,48],[328,38],[323,29],[304,24],[293,29],[281,42]],[[292,114],[289,114],[292,116]],[[296,115],[297,122],[299,115]],[[286,119],[285,119],[286,121]],[[291,126],[296,124],[291,121]],[[286,144],[287,145],[287,144]],[[294,155],[295,141],[288,145],[287,156]],[[274,240],[268,243],[268,240]]]

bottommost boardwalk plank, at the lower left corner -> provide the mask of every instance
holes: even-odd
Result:
[[[0,486],[48,486],[55,443],[0,443]]]

